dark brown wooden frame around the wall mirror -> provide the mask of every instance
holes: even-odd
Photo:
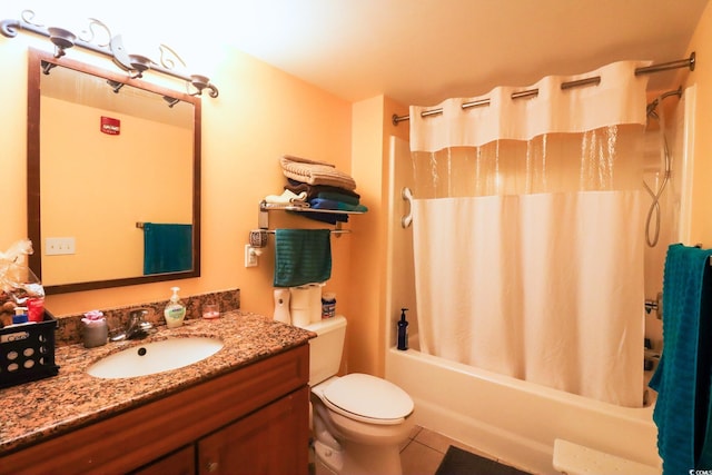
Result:
[[[29,256],[30,269],[42,279],[41,253],[41,209],[40,209],[40,78],[43,75],[42,65],[52,63],[76,71],[98,76],[132,86],[138,89],[168,96],[194,106],[194,146],[192,146],[192,269],[178,273],[154,274],[148,276],[123,277],[108,280],[60,284],[44,286],[47,295],[66,294],[71,291],[93,290],[100,288],[122,287],[149,284],[165,280],[187,279],[200,277],[200,129],[201,102],[199,97],[182,93],[161,86],[149,83],[140,79],[127,77],[126,73],[112,72],[85,62],[55,58],[51,53],[33,48],[28,49],[28,116],[27,116],[27,228],[28,238],[32,241],[34,253]],[[39,246],[38,246],[39,244]]]

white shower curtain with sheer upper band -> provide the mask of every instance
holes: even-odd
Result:
[[[423,352],[642,405],[641,66],[411,107]]]

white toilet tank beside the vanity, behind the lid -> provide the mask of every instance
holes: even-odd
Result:
[[[304,328],[317,334],[309,340],[309,386],[316,386],[335,376],[342,366],[346,318],[325,318]]]

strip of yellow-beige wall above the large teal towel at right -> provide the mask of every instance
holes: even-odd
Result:
[[[688,55],[695,51],[695,70],[684,73],[684,87],[698,85],[694,141],[694,179],[692,194],[691,243],[712,247],[712,3],[709,3]]]

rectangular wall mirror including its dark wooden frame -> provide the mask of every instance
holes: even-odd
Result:
[[[30,50],[28,237],[48,295],[200,276],[200,100]]]

